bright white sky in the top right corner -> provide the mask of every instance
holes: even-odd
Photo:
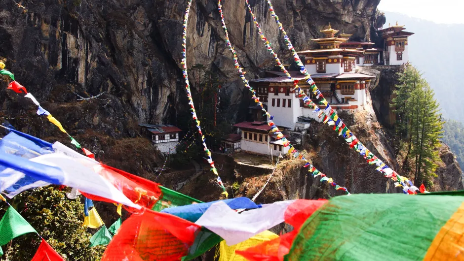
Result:
[[[437,24],[464,24],[464,0],[381,0],[378,8]]]

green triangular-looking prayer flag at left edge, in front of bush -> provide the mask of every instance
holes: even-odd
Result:
[[[11,239],[26,233],[37,233],[21,215],[9,206],[0,221],[0,246],[7,244]]]

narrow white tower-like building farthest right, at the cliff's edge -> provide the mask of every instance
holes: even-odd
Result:
[[[403,65],[409,62],[408,37],[414,33],[404,31],[404,26],[389,26],[379,30],[384,40],[384,62],[385,65]]]

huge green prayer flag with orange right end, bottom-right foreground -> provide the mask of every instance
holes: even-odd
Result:
[[[300,228],[285,260],[456,260],[463,201],[462,192],[332,197]],[[388,225],[392,220],[420,229],[405,237],[404,229]]]

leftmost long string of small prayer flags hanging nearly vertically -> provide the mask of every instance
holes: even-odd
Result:
[[[226,197],[228,197],[228,193],[226,192],[226,188],[224,187],[224,183],[222,182],[221,178],[219,177],[218,170],[214,166],[213,159],[211,158],[211,151],[209,151],[208,147],[206,146],[205,142],[205,136],[201,132],[201,127],[200,127],[200,121],[198,120],[198,117],[196,116],[196,111],[195,111],[195,106],[193,105],[193,99],[192,99],[192,92],[190,91],[190,82],[189,82],[189,74],[187,72],[187,53],[186,53],[186,48],[187,48],[187,24],[189,22],[189,13],[190,13],[190,7],[192,5],[192,0],[188,0],[187,2],[187,9],[185,11],[184,15],[184,22],[182,24],[183,32],[182,32],[182,74],[184,75],[185,78],[185,89],[187,92],[187,98],[189,99],[189,105],[190,105],[190,110],[192,113],[192,118],[196,122],[196,128],[198,129],[198,133],[200,134],[201,137],[201,142],[204,148],[204,152],[206,154],[207,161],[211,166],[211,171],[213,171],[214,174],[217,176],[216,182],[218,185],[221,187],[223,190],[223,193]]]

